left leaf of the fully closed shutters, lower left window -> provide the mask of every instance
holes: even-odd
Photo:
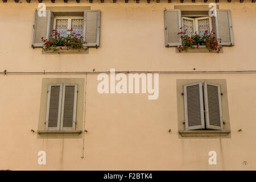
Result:
[[[48,85],[46,130],[60,130],[63,84]]]

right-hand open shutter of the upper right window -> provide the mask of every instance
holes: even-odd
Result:
[[[233,46],[233,30],[230,10],[218,10],[215,17],[217,38],[221,39],[221,46]]]

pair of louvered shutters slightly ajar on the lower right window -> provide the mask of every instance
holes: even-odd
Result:
[[[220,85],[193,82],[184,85],[185,130],[222,130]]]

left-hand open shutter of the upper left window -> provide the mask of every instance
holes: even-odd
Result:
[[[51,11],[50,10],[44,10],[44,11],[45,12],[38,11],[38,10],[35,11],[32,47],[43,47],[44,43],[42,42],[42,37],[44,39],[49,39],[50,26],[51,26]],[[43,13],[45,13],[46,16],[43,16],[42,15]]]

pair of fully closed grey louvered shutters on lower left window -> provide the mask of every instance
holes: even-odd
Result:
[[[77,84],[49,84],[46,130],[75,130]]]

